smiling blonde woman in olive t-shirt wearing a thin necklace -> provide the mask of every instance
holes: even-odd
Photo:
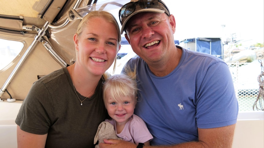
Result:
[[[94,147],[107,117],[103,74],[116,59],[121,35],[114,16],[87,14],[74,35],[76,62],[36,81],[17,115],[18,147]]]

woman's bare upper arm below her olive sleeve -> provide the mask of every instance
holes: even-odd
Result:
[[[22,131],[17,125],[17,148],[44,148],[47,135],[37,135]]]

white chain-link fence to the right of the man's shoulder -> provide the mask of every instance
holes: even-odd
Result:
[[[232,74],[239,111],[253,111],[253,105],[258,96],[258,76],[261,74],[261,64],[258,62],[227,64]],[[257,106],[260,104],[257,103]]]

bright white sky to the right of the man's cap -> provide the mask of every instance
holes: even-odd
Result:
[[[163,0],[175,16],[176,40],[233,36],[241,43],[264,42],[263,0]],[[172,7],[173,6],[173,7]],[[223,27],[225,26],[225,27]]]

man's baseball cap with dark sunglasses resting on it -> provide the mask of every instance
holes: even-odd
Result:
[[[170,16],[170,11],[161,0],[131,0],[119,10],[119,20],[122,25],[121,34],[126,26],[126,22],[135,14],[141,12],[166,13]]]

